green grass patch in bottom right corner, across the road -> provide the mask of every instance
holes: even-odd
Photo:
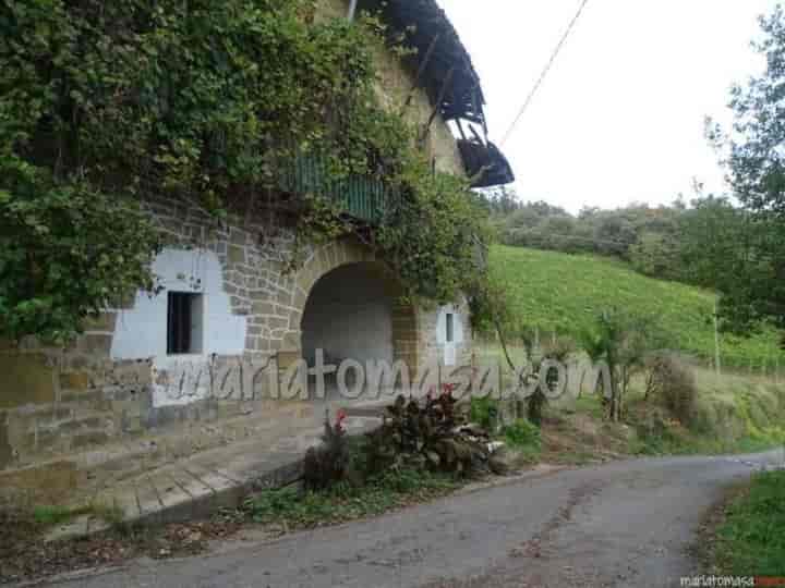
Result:
[[[785,576],[785,471],[752,477],[717,530],[715,556],[733,575]]]

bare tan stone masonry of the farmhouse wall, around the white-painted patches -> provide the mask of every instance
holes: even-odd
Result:
[[[322,15],[345,14],[345,0],[325,0]],[[330,12],[331,11],[331,12]],[[410,122],[422,124],[433,111],[427,95],[415,89],[408,109],[413,77],[391,53],[378,56],[377,91],[390,109],[404,112]],[[433,124],[426,149],[437,169],[462,174],[463,166],[447,124]],[[217,224],[198,207],[174,200],[149,199],[143,205],[165,235],[169,247],[206,252],[217,256],[222,291],[229,296],[232,316],[244,317],[245,341],[237,357],[204,357],[207,384],[214,389],[221,373],[239,360],[285,370],[302,353],[301,321],[314,284],[334,269],[359,265],[384,277],[392,306],[395,359],[422,366],[442,357],[436,335],[439,308],[414,307],[401,301],[381,260],[352,240],[305,248],[305,261],[297,271],[285,271],[292,256],[294,233],[278,218],[230,219]],[[255,404],[194,397],[192,402],[159,406],[154,391],[161,382],[184,381],[183,375],[157,368],[155,358],[112,357],[112,341],[119,324],[128,320],[134,297],[87,321],[85,333],[68,348],[41,345],[34,339],[0,341],[0,499],[3,490],[20,488],[41,492],[35,500],[56,500],[85,483],[74,455],[101,448],[122,448],[153,432],[183,422],[216,419],[265,411],[270,419],[293,419],[307,411],[286,403]],[[466,304],[455,306],[466,340],[457,346],[458,363],[466,364],[471,335]],[[222,371],[221,371],[222,370]],[[226,384],[227,378],[220,385]],[[154,443],[154,441],[150,441]],[[108,451],[108,450],[107,450]],[[95,460],[106,460],[97,453]],[[92,455],[92,454],[90,454]],[[92,458],[92,457],[90,457]]]

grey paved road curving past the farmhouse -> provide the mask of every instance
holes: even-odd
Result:
[[[734,481],[783,452],[618,462],[462,493],[378,519],[135,562],[68,587],[678,586]]]

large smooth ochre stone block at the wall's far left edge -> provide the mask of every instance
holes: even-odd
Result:
[[[0,409],[53,404],[55,378],[43,354],[0,355]]]

